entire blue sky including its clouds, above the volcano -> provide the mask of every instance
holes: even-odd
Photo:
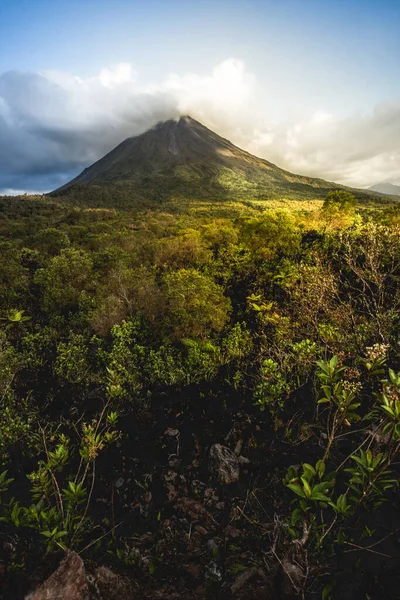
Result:
[[[400,0],[0,0],[0,193],[182,114],[295,173],[400,184]]]

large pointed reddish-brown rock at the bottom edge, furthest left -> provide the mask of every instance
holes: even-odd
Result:
[[[25,600],[86,600],[85,565],[76,552],[68,552],[58,569]]]

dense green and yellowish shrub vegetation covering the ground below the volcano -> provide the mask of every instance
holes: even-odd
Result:
[[[0,205],[0,596],[398,598],[397,205]]]

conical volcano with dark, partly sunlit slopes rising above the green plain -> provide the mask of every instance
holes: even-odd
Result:
[[[52,195],[93,199],[123,194],[132,202],[316,199],[338,187],[280,169],[185,116],[126,139]]]

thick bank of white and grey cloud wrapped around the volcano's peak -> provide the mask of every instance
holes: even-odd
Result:
[[[400,180],[400,100],[369,115],[338,118],[316,108],[301,122],[278,123],[263,115],[271,93],[235,59],[209,75],[169,75],[150,85],[128,63],[86,79],[4,73],[0,190],[54,189],[126,137],[181,114],[293,172],[354,186]]]

